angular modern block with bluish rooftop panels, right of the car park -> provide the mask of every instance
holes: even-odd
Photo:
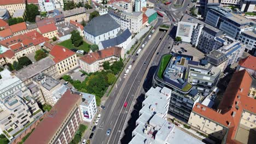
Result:
[[[217,50],[212,50],[207,55],[206,59],[222,71],[230,65],[235,64],[245,51],[245,46],[235,39],[223,35],[222,37],[216,37],[214,40],[217,41],[221,47]]]

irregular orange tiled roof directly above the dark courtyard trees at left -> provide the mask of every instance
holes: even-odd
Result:
[[[43,35],[37,31],[28,32],[28,33],[25,33],[24,35],[27,38],[30,38],[32,40],[33,45],[38,45],[45,41],[49,41],[48,38],[43,37]]]

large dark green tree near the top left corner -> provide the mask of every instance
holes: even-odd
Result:
[[[26,17],[25,17],[26,21],[35,22],[36,16],[40,15],[37,5],[27,4],[26,10],[25,10],[25,15],[26,15]]]

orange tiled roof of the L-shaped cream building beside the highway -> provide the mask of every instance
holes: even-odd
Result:
[[[100,51],[95,51],[92,53],[89,53],[82,58],[80,58],[82,61],[88,64],[92,64],[100,59],[107,58],[110,56],[121,56],[121,47],[109,47],[108,49],[103,49]]]

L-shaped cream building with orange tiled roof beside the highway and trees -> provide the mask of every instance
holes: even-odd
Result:
[[[94,73],[103,70],[103,63],[112,64],[124,57],[124,49],[121,47],[109,47],[100,51],[88,53],[79,59],[80,68],[86,73]]]

